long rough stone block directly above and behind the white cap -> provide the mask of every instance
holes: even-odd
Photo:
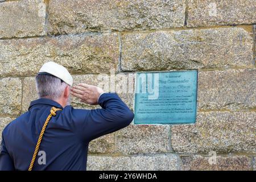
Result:
[[[53,38],[0,40],[0,75],[35,75],[43,63],[55,61],[71,73],[117,71],[117,34],[65,35]]]

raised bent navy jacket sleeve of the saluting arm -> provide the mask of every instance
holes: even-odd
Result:
[[[101,94],[98,102],[102,109],[81,109],[77,111],[81,117],[75,117],[79,119],[74,121],[76,128],[87,142],[130,125],[134,118],[134,113],[115,93]]]

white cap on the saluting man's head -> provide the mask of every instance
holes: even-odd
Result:
[[[39,75],[44,75],[43,73],[46,73],[46,75],[53,75],[56,76],[57,78],[60,78],[64,82],[66,82],[68,85],[72,86],[73,85],[73,78],[68,72],[66,68],[63,66],[54,63],[54,62],[47,62],[44,63],[42,68],[39,70]],[[48,73],[48,74],[47,74]]]

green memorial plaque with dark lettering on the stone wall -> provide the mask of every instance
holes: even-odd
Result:
[[[197,71],[140,72],[135,81],[135,124],[195,123]]]

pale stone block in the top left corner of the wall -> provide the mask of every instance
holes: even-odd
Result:
[[[0,38],[46,35],[43,0],[0,3]]]

